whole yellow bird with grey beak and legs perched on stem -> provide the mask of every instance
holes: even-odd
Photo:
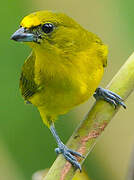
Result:
[[[56,139],[58,148],[55,151],[81,171],[75,156],[83,156],[62,143],[54,122],[58,115],[84,103],[94,92],[96,99],[125,108],[120,96],[97,88],[107,65],[107,46],[67,15],[51,11],[24,17],[11,39],[25,42],[32,48],[22,67],[22,96],[38,108]]]

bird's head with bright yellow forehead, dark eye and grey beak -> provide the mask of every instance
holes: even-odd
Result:
[[[18,42],[27,42],[32,48],[77,51],[83,48],[87,33],[73,19],[62,13],[38,11],[24,17],[20,28],[11,36]],[[92,38],[92,36],[91,36]]]

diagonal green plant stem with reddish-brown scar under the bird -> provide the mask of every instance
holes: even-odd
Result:
[[[134,53],[121,67],[107,88],[120,95],[124,100],[134,90]],[[119,107],[115,109],[105,101],[97,101],[86,118],[78,125],[67,142],[67,146],[87,157],[95,146],[98,137],[118,110]],[[82,164],[85,159],[78,160]],[[74,167],[62,155],[59,155],[43,180],[71,180],[74,174]]]

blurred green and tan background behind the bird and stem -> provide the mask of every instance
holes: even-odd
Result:
[[[0,180],[30,180],[51,166],[55,141],[32,105],[24,105],[18,84],[21,66],[30,49],[10,41],[23,16],[37,10],[67,13],[98,34],[109,46],[105,86],[134,50],[132,0],[5,0],[0,7]],[[61,116],[56,127],[66,142],[94,99]],[[126,102],[87,158],[84,167],[92,180],[124,180],[134,144],[134,95]]]

